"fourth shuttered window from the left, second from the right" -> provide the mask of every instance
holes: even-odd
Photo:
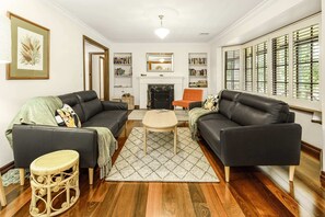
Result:
[[[272,38],[272,94],[287,96],[289,91],[289,36]]]

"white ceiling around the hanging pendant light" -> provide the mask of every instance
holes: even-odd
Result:
[[[205,43],[263,0],[51,0],[109,41],[162,42],[154,35],[163,13],[167,43]],[[200,33],[209,33],[200,35]]]

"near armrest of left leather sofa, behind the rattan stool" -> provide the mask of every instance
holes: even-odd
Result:
[[[16,168],[30,168],[32,161],[39,156],[62,149],[78,151],[81,168],[94,168],[97,163],[98,145],[95,129],[14,125],[12,139]]]

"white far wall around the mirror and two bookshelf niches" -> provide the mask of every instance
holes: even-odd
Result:
[[[165,44],[165,43],[119,43],[114,44],[111,49],[111,78],[114,76],[113,69],[113,53],[132,53],[132,72],[134,81],[132,88],[116,88],[111,91],[112,98],[120,98],[123,91],[125,93],[131,93],[135,95],[135,104],[139,105],[139,79],[141,73],[148,76],[159,76],[162,72],[147,72],[147,53],[174,53],[174,72],[163,72],[165,76],[182,76],[184,77],[184,87],[188,87],[188,53],[208,53],[208,65],[210,62],[210,46],[208,44]],[[210,68],[208,67],[208,89],[206,89],[205,94],[212,93],[210,91],[213,83],[209,82],[210,79]],[[114,79],[111,79],[111,87],[114,87]]]

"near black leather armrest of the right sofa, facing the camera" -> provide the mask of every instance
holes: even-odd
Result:
[[[224,128],[220,142],[224,165],[298,165],[301,126],[286,123]]]

